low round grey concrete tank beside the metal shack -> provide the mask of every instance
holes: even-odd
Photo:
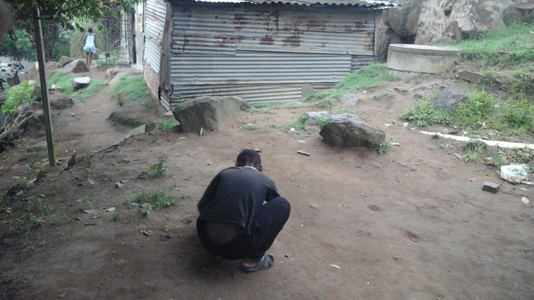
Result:
[[[391,44],[387,51],[389,74],[409,80],[422,74],[439,74],[454,70],[461,58],[456,48],[433,45]]]

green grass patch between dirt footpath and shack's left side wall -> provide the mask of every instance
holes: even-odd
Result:
[[[110,97],[117,100],[120,106],[127,102],[146,108],[154,107],[154,100],[148,90],[147,82],[141,74],[137,73],[122,75],[110,92]]]

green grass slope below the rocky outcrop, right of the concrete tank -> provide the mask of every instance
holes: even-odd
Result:
[[[511,23],[506,28],[490,31],[483,36],[454,45],[484,67],[495,65],[525,65],[534,60],[534,23]]]

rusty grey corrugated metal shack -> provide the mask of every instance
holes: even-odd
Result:
[[[147,0],[143,68],[170,109],[203,95],[300,100],[372,63],[373,0]]]

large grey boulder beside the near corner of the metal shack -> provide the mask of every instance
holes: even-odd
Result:
[[[174,107],[172,114],[184,132],[217,130],[251,106],[239,97],[198,97]]]

